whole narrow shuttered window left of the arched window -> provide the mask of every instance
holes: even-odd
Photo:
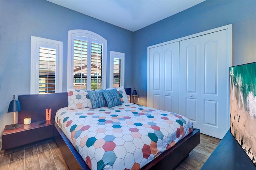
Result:
[[[30,93],[62,92],[62,42],[31,36]]]

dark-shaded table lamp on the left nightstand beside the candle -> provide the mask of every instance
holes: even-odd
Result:
[[[13,100],[10,101],[10,105],[8,109],[8,113],[13,112],[13,125],[7,126],[5,128],[6,130],[12,130],[12,129],[20,128],[23,126],[23,125],[16,124],[16,112],[18,111],[21,111],[20,101],[16,100],[15,95],[13,95]]]

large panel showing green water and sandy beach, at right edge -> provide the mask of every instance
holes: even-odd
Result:
[[[230,132],[256,166],[256,62],[230,67]]]

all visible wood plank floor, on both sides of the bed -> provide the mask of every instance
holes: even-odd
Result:
[[[220,139],[200,134],[200,144],[190,152],[176,170],[200,170]],[[0,147],[2,144],[0,144]],[[12,150],[0,148],[0,170],[68,170],[54,140],[38,142]]]

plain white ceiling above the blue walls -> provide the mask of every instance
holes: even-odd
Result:
[[[48,0],[132,32],[204,0]]]

